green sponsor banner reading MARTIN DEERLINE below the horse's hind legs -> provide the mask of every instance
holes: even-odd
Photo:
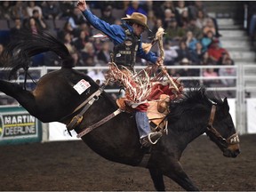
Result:
[[[21,107],[0,108],[0,145],[40,142],[42,124]]]

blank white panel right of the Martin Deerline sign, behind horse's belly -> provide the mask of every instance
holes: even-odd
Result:
[[[76,132],[71,131],[72,137],[68,134],[66,124],[58,122],[49,123],[49,141],[57,140],[80,140],[76,138]]]

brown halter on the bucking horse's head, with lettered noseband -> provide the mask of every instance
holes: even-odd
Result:
[[[218,132],[214,127],[213,127],[213,121],[214,121],[214,116],[216,113],[216,105],[212,105],[212,110],[211,110],[211,115],[210,115],[210,119],[209,122],[207,124],[207,131],[211,132],[216,138],[217,140],[220,142],[220,145],[224,148],[228,148],[228,146],[230,145],[235,145],[239,143],[239,137],[237,132],[233,135],[231,135],[230,137],[228,137],[228,139],[223,138],[220,135],[220,132]]]

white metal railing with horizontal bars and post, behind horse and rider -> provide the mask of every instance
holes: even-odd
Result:
[[[136,70],[140,70],[145,68],[145,66],[135,66]],[[250,70],[250,68],[256,70],[256,65],[236,65],[236,66],[166,66],[167,69],[181,69],[181,68],[188,68],[188,69],[199,69],[200,75],[199,76],[180,76],[179,79],[181,81],[184,80],[192,80],[192,81],[199,81],[200,84],[203,84],[204,80],[221,80],[221,79],[236,79],[236,84],[232,87],[207,87],[209,91],[235,91],[236,92],[236,127],[241,133],[246,132],[246,107],[245,107],[245,92],[255,92],[256,85],[254,84],[246,84],[246,81],[251,80],[256,82],[256,76],[246,76],[245,70]],[[236,76],[217,76],[217,77],[205,77],[203,76],[203,70],[205,68],[236,68]],[[29,72],[37,71],[37,75],[39,77],[44,76],[48,72],[52,70],[60,69],[60,67],[36,67],[36,68],[29,68]],[[92,70],[92,69],[101,69],[101,70],[108,70],[108,66],[102,67],[76,67],[77,70]],[[37,79],[35,79],[37,80]],[[18,78],[15,82],[23,84],[24,79],[22,76]],[[28,83],[33,83],[31,79],[27,80]],[[248,86],[247,86],[248,85]],[[118,89],[106,89],[106,92],[119,92]],[[0,97],[3,97],[4,93],[0,92]],[[5,96],[6,97],[6,96]]]

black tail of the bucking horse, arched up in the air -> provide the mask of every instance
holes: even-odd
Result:
[[[62,68],[74,67],[74,60],[65,44],[49,33],[32,34],[28,31],[20,32],[19,39],[6,46],[1,56],[1,67],[11,68],[9,78],[12,78],[20,68],[27,71],[29,59],[42,52],[55,52],[62,60]]]

